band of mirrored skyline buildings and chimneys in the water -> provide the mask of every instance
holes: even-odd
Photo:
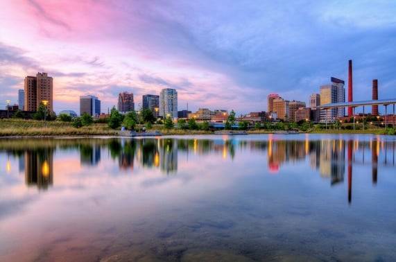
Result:
[[[269,135],[265,139],[233,139],[232,137],[144,138],[144,139],[1,139],[1,152],[7,155],[6,173],[10,173],[10,157],[19,159],[19,171],[24,171],[28,186],[40,190],[53,185],[54,153],[72,151],[80,154],[81,166],[97,166],[103,150],[119,163],[119,170],[134,172],[142,168],[160,168],[164,175],[178,173],[178,159],[188,161],[190,155],[221,155],[223,160],[238,161],[238,152],[261,152],[267,156],[269,173],[282,173],[282,166],[309,161],[319,175],[331,185],[344,182],[347,172],[348,201],[352,201],[354,166],[371,166],[372,184],[378,182],[379,166],[395,166],[395,141],[372,136],[368,140],[295,139],[285,140]],[[104,152],[104,154],[106,154]],[[370,155],[367,157],[367,155]],[[56,163],[55,163],[56,164]]]

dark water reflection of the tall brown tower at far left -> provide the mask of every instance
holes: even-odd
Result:
[[[38,189],[48,189],[53,184],[52,148],[25,151],[25,182]]]

